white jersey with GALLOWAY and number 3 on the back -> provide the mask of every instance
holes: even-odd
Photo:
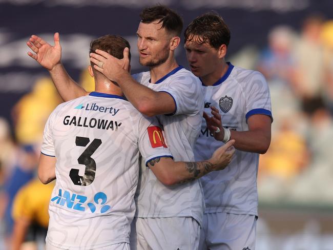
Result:
[[[92,249],[129,243],[139,153],[145,160],[171,156],[157,126],[122,97],[97,92],[53,111],[41,148],[57,159],[49,244]],[[161,141],[154,142],[156,134]]]

